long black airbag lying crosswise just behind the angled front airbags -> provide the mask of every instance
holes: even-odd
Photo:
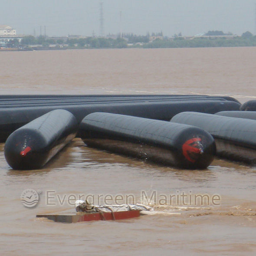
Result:
[[[180,101],[180,102],[146,102],[146,103],[120,103],[98,105],[59,105],[31,108],[0,109],[0,142],[16,129],[55,109],[65,109],[71,112],[80,122],[93,112],[109,112],[114,114],[132,115],[143,118],[170,121],[177,113],[184,111],[205,112],[214,114],[224,110],[239,110],[240,104],[233,101]]]

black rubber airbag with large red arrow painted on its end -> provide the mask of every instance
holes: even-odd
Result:
[[[87,115],[79,126],[85,144],[185,169],[205,169],[213,137],[190,125],[110,113]]]

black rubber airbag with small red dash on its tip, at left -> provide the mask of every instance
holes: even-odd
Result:
[[[7,163],[16,170],[39,169],[75,138],[77,130],[75,116],[66,110],[54,110],[36,118],[7,138]]]

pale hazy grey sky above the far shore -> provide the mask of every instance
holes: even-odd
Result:
[[[256,0],[0,0],[0,24],[17,34],[48,36],[175,33],[193,36],[209,30],[255,34]],[[121,12],[121,18],[120,18]],[[121,22],[120,22],[121,21]],[[121,26],[120,26],[121,24]]]

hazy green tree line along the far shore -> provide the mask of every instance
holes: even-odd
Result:
[[[86,38],[67,38],[53,39],[45,36],[27,36],[24,37],[21,42],[14,41],[13,44],[17,46],[33,46],[42,45],[43,47],[49,47],[50,44],[60,47],[65,45],[69,49],[74,48],[190,48],[190,47],[231,47],[231,46],[256,46],[256,36],[246,31],[242,36],[232,36],[232,33],[224,34],[222,31],[208,31],[205,37],[195,36],[187,39],[186,37],[175,35],[174,38],[164,37],[161,33],[152,34],[157,38],[150,41],[150,35],[136,36],[133,33],[122,34],[122,37],[117,39],[106,37],[86,37]],[[209,37],[207,37],[209,35]],[[226,36],[226,37],[225,37]]]

